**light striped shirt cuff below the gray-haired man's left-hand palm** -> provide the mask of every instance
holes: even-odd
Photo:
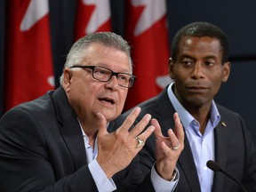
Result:
[[[88,164],[89,170],[92,173],[92,178],[96,183],[99,192],[108,192],[116,190],[116,184],[112,179],[108,179],[105,172],[98,164],[97,160],[94,159],[90,164]]]

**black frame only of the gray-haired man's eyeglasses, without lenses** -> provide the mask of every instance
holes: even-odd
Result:
[[[119,86],[121,87],[124,87],[124,88],[130,88],[132,87],[132,85],[134,84],[135,80],[136,80],[136,76],[133,76],[132,74],[129,74],[129,73],[124,73],[124,72],[115,72],[109,68],[105,68],[105,67],[102,67],[102,66],[81,66],[81,65],[74,65],[74,66],[71,66],[70,68],[89,68],[89,69],[92,69],[92,77],[100,82],[108,82],[112,76],[116,76],[116,79],[117,79],[117,84],[118,84],[118,75],[119,74],[123,74],[123,75],[128,75],[128,76],[131,76],[129,82],[128,82],[128,86],[124,86],[123,84],[118,84]],[[111,76],[109,76],[108,80],[101,80],[101,79],[98,79],[94,76],[94,68],[104,68],[106,70],[108,70],[109,72],[111,72]]]

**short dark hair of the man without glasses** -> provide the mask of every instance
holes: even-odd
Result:
[[[180,51],[180,40],[185,36],[210,36],[218,39],[222,47],[222,63],[228,61],[228,36],[217,26],[203,21],[190,23],[187,26],[180,28],[176,33],[172,40],[172,60],[177,60],[177,55]]]

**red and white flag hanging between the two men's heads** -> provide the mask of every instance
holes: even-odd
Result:
[[[165,0],[129,0],[126,39],[132,44],[133,74],[125,108],[155,96],[171,83],[168,76],[170,47]]]

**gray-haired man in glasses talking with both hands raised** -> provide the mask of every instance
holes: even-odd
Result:
[[[141,133],[151,116],[130,131],[140,114],[135,108],[124,124],[116,122],[116,132],[107,131],[134,80],[130,46],[121,36],[104,32],[79,39],[68,53],[61,86],[2,117],[0,191],[172,191],[183,145],[178,116],[177,137],[171,139],[181,147],[148,175],[142,174],[137,154],[160,130],[155,122]],[[164,164],[171,172],[164,172]]]

